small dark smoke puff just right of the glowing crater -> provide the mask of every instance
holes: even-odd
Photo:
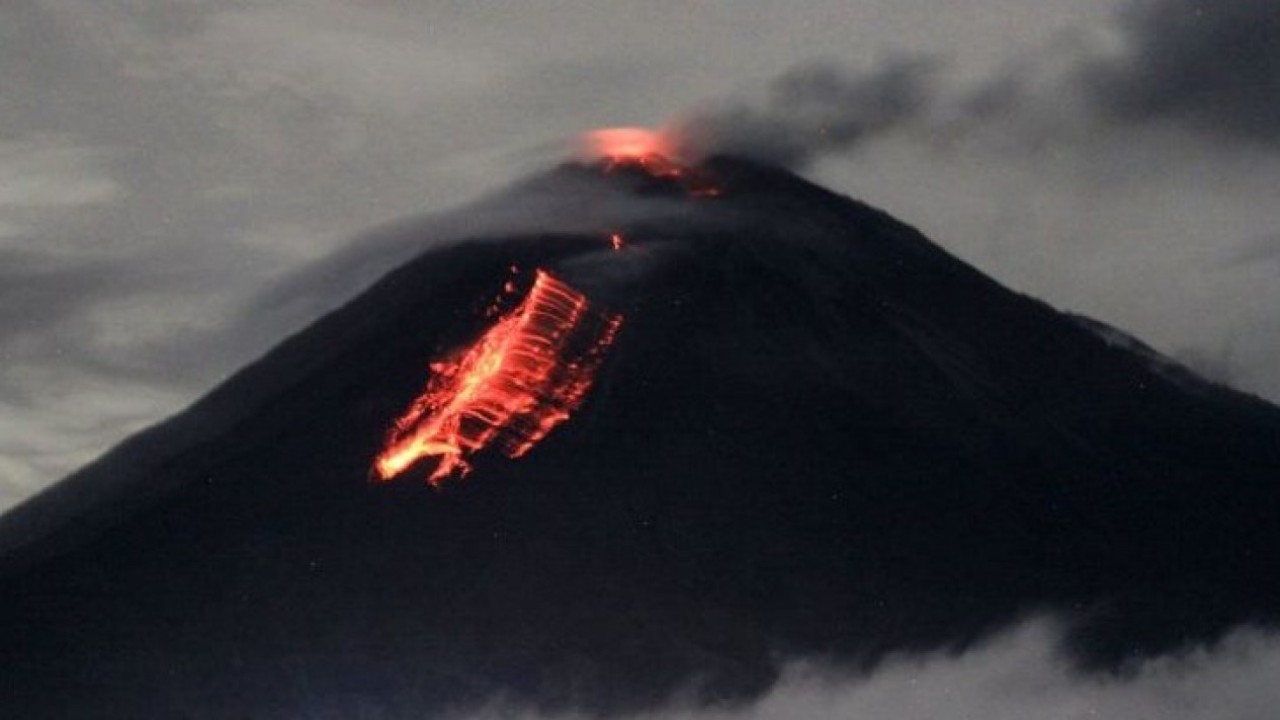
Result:
[[[762,102],[730,101],[676,124],[690,156],[731,154],[788,168],[856,147],[920,118],[934,99],[931,58],[891,58],[870,72],[831,64],[795,68]]]

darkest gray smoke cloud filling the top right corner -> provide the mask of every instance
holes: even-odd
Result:
[[[1224,137],[1280,137],[1280,4],[1138,0],[1120,18],[1124,53],[1084,68],[1097,109],[1175,120]]]

